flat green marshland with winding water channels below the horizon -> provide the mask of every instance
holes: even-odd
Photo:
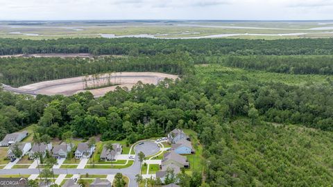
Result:
[[[332,21],[331,21],[332,22]],[[330,21],[155,21],[151,23],[66,24],[44,22],[39,25],[10,26],[0,21],[0,37],[57,39],[63,37],[155,37],[200,38],[237,37],[282,39],[297,37],[333,37]],[[17,23],[15,23],[17,24]],[[215,35],[215,36],[214,36]],[[217,35],[217,36],[216,36]]]

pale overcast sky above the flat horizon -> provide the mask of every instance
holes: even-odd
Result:
[[[333,0],[0,0],[1,20],[333,19]]]

